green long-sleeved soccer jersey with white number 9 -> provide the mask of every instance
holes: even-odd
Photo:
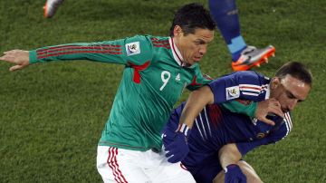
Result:
[[[185,88],[210,82],[197,63],[184,65],[171,37],[137,35],[101,43],[71,43],[30,52],[30,62],[91,60],[124,64],[109,120],[99,145],[121,149],[160,149],[160,131]]]

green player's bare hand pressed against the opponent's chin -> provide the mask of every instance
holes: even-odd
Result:
[[[256,111],[254,112],[254,117],[257,120],[261,120],[264,123],[275,125],[273,120],[268,120],[266,117],[268,114],[273,113],[284,118],[284,113],[281,109],[281,104],[275,99],[268,99],[266,101],[259,101],[257,104]]]

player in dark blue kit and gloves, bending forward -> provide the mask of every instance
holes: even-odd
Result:
[[[284,64],[272,79],[257,72],[234,72],[216,79],[192,92],[187,103],[172,112],[162,135],[166,156],[170,162],[182,160],[197,182],[224,178],[225,182],[260,182],[241,159],[248,151],[289,134],[290,112],[306,99],[311,87],[312,73],[297,62]],[[233,106],[218,104],[225,99],[234,99]],[[247,106],[253,108],[252,117],[232,112]],[[273,111],[267,116],[271,124],[257,120],[262,111]]]

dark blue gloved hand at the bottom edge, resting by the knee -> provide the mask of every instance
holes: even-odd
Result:
[[[246,183],[245,174],[238,165],[231,164],[225,168],[225,183]]]

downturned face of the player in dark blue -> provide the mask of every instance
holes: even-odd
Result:
[[[283,79],[273,78],[271,98],[281,104],[283,112],[292,111],[298,102],[304,101],[311,86],[287,74]]]

